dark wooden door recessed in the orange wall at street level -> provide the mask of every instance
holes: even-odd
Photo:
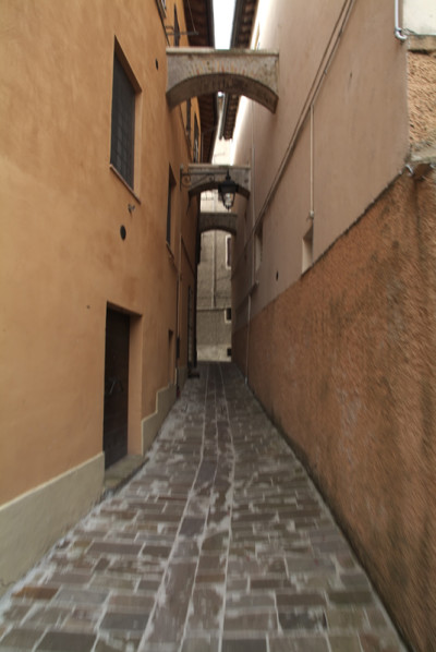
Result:
[[[106,469],[128,454],[129,338],[129,315],[108,309],[102,435]]]

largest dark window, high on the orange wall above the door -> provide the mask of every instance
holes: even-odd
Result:
[[[116,50],[110,162],[131,188],[134,182],[135,95],[136,88],[128,74],[126,64],[123,65]]]

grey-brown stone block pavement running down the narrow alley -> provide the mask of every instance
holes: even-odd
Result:
[[[0,602],[0,650],[397,652],[377,595],[231,364]]]

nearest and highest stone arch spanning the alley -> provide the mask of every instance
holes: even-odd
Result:
[[[245,95],[272,113],[278,101],[278,55],[261,50],[167,48],[167,99],[175,107],[190,97],[223,92]]]

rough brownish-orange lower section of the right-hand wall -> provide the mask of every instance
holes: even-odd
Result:
[[[435,215],[436,174],[400,177],[253,319],[247,370],[423,651],[436,648]],[[245,373],[246,341],[234,334]]]

